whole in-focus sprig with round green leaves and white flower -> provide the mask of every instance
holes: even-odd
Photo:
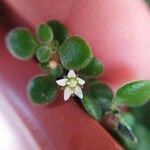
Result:
[[[96,121],[106,120],[117,134],[136,143],[132,129],[123,120],[121,107],[146,103],[150,98],[149,80],[127,83],[113,94],[108,85],[97,79],[104,67],[93,56],[88,42],[80,36],[70,35],[56,20],[40,24],[36,35],[26,28],[13,29],[7,35],[6,44],[17,59],[25,61],[36,57],[44,72],[28,84],[33,103],[50,104],[58,90],[63,90],[65,101],[70,97],[79,100]]]

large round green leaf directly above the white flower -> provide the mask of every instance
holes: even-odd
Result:
[[[59,56],[61,63],[68,70],[86,67],[93,57],[88,43],[78,36],[71,36],[63,43],[59,48]]]

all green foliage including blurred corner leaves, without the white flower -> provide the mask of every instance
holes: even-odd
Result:
[[[56,78],[62,77],[68,70],[76,70],[79,77],[86,80],[81,103],[88,114],[97,121],[100,121],[106,114],[108,118],[116,117],[114,124],[116,123],[117,131],[131,141],[136,141],[133,134],[135,133],[139,140],[137,145],[133,145],[127,139],[120,137],[120,141],[126,148],[148,150],[150,147],[148,141],[150,138],[148,112],[150,109],[148,105],[142,106],[143,110],[130,108],[135,118],[130,113],[125,113],[122,116],[123,120],[118,106],[145,104],[150,99],[150,81],[143,80],[125,84],[113,98],[111,89],[106,84],[95,80],[103,72],[103,64],[95,57],[93,58],[91,48],[83,38],[69,36],[66,27],[57,20],[40,24],[36,34],[37,41],[28,29],[16,28],[7,36],[7,47],[16,58],[28,60],[36,55],[40,67],[48,73],[48,75],[37,76],[30,81],[28,94],[31,101],[40,105],[54,101],[57,94]],[[51,55],[52,53],[54,55]],[[60,64],[57,64],[59,58]],[[124,120],[133,128],[133,132]],[[117,137],[121,134],[115,133]]]

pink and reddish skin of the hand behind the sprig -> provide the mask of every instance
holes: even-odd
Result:
[[[9,16],[14,18],[17,25],[34,29],[37,24],[56,18],[72,34],[87,39],[94,55],[105,65],[105,73],[100,79],[109,83],[114,90],[127,81],[150,79],[150,16],[149,9],[142,0],[44,0],[44,3],[41,0],[5,0],[5,4],[9,8],[8,12],[11,12],[8,13]],[[20,62],[6,50],[2,56],[0,77],[3,78],[0,81],[7,80],[13,87],[10,90],[21,99],[12,96],[12,105],[25,118],[24,123],[42,147],[51,146],[62,150],[121,149],[72,99],[64,103],[60,99],[63,95],[60,95],[51,106],[32,106],[27,101],[25,90],[29,79],[39,72],[37,64]],[[3,67],[7,60],[10,64]],[[17,74],[14,66],[17,66]],[[8,88],[5,82],[2,86]],[[7,90],[3,90],[3,93],[9,97]],[[26,108],[29,116],[23,112]],[[34,130],[34,118],[39,121],[37,125],[41,125],[42,129],[36,129],[41,132],[41,136]],[[40,137],[46,139],[41,140]]]

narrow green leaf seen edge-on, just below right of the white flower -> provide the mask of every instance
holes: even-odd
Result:
[[[102,118],[102,112],[98,105],[95,105],[93,100],[86,96],[83,97],[81,102],[85,110],[89,113],[89,115],[95,120],[100,121],[100,119]]]

